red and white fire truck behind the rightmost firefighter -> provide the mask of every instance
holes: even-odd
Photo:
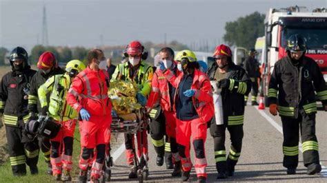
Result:
[[[265,43],[263,50],[263,80],[261,96],[268,96],[268,84],[275,63],[286,56],[286,41],[293,34],[306,40],[306,56],[313,58],[327,82],[327,10],[306,7],[270,8],[265,19]],[[267,105],[267,103],[266,103]]]

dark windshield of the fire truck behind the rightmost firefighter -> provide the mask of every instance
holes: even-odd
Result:
[[[281,32],[281,47],[286,47],[287,39],[293,34],[303,36],[308,49],[324,49],[327,44],[326,29],[284,28]]]

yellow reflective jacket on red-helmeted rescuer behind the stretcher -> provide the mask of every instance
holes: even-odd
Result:
[[[151,91],[151,82],[153,77],[153,69],[145,61],[141,61],[139,68],[135,71],[134,76],[130,76],[132,65],[128,62],[119,64],[114,74],[112,74],[111,81],[115,80],[132,80],[137,84],[139,93],[143,96],[148,96]]]

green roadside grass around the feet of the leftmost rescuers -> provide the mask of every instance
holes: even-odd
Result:
[[[4,128],[4,127],[3,127]],[[75,129],[75,138],[79,140],[79,129],[78,125]],[[79,153],[80,153],[80,143],[77,140],[74,140],[74,150],[73,150],[73,169],[72,169],[72,179],[77,180],[77,176],[79,173]],[[6,160],[5,163],[0,164],[0,182],[54,182],[52,176],[46,174],[47,165],[44,162],[43,153],[39,154],[39,175],[30,175],[30,169],[27,167],[27,175],[23,177],[13,177],[11,166],[9,160]]]

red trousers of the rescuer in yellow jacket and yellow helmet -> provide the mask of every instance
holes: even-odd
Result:
[[[58,121],[56,121],[58,122]],[[72,169],[72,142],[77,120],[66,120],[61,123],[61,129],[55,138],[50,140],[52,173],[61,174],[61,169]],[[63,145],[62,151],[61,146]]]

